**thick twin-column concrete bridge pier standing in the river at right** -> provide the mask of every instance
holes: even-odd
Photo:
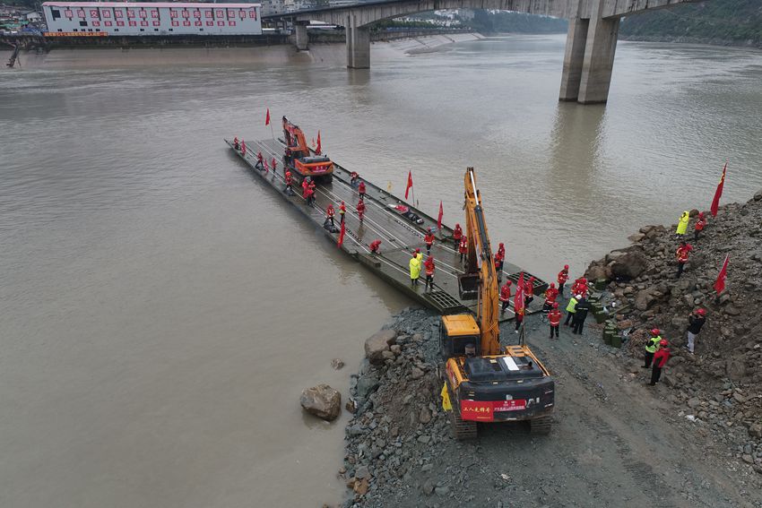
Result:
[[[589,20],[569,20],[560,100],[595,104],[609,99],[619,17],[602,16],[606,1],[597,0],[593,4],[593,14]]]

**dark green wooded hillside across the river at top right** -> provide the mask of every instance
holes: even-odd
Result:
[[[762,44],[762,2],[710,0],[626,18],[622,39]]]

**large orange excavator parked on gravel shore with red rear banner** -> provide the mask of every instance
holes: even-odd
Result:
[[[461,298],[477,300],[477,312],[444,315],[439,327],[442,395],[451,406],[453,434],[470,439],[477,436],[478,422],[524,420],[532,434],[547,435],[555,404],[550,372],[523,339],[500,349],[498,274],[473,168],[465,173],[463,209],[468,258],[458,288]]]

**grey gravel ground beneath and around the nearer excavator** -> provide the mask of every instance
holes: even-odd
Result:
[[[438,319],[406,309],[386,327],[397,338],[385,363],[365,360],[352,376],[343,506],[762,507],[762,475],[684,418],[667,383],[646,386],[650,371],[602,345],[592,318],[581,337],[562,326],[560,340],[527,318],[527,341],[556,379],[549,436],[480,424],[478,440],[455,441],[438,398]]]

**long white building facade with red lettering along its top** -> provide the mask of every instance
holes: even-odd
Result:
[[[261,35],[261,4],[45,2],[46,36]]]

